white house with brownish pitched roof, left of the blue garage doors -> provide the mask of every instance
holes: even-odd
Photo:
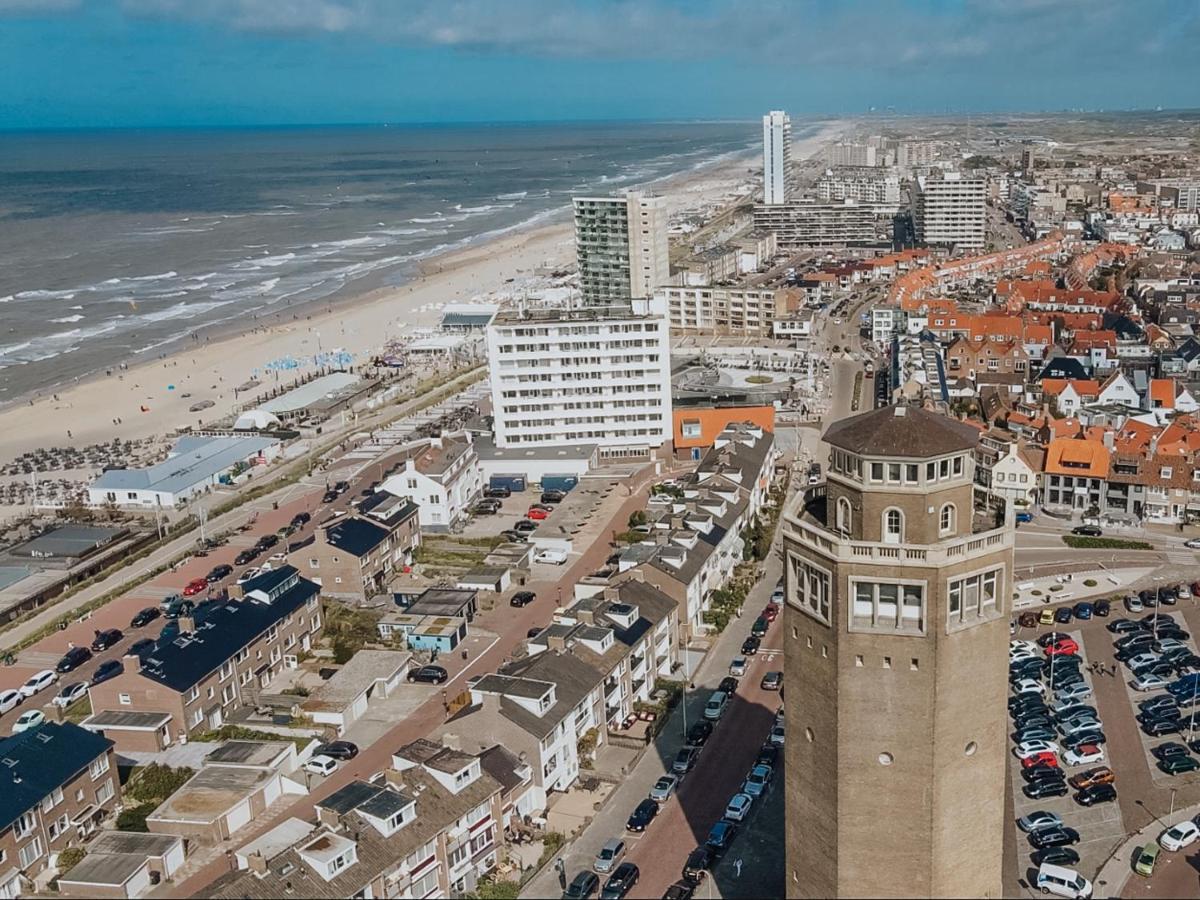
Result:
[[[467,518],[484,493],[484,469],[470,432],[424,442],[404,460],[404,468],[379,490],[415,503],[421,528],[449,532]]]

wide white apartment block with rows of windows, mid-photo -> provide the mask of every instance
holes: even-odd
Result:
[[[671,438],[671,343],[660,300],[512,310],[487,328],[498,448],[598,444],[649,456]]]

